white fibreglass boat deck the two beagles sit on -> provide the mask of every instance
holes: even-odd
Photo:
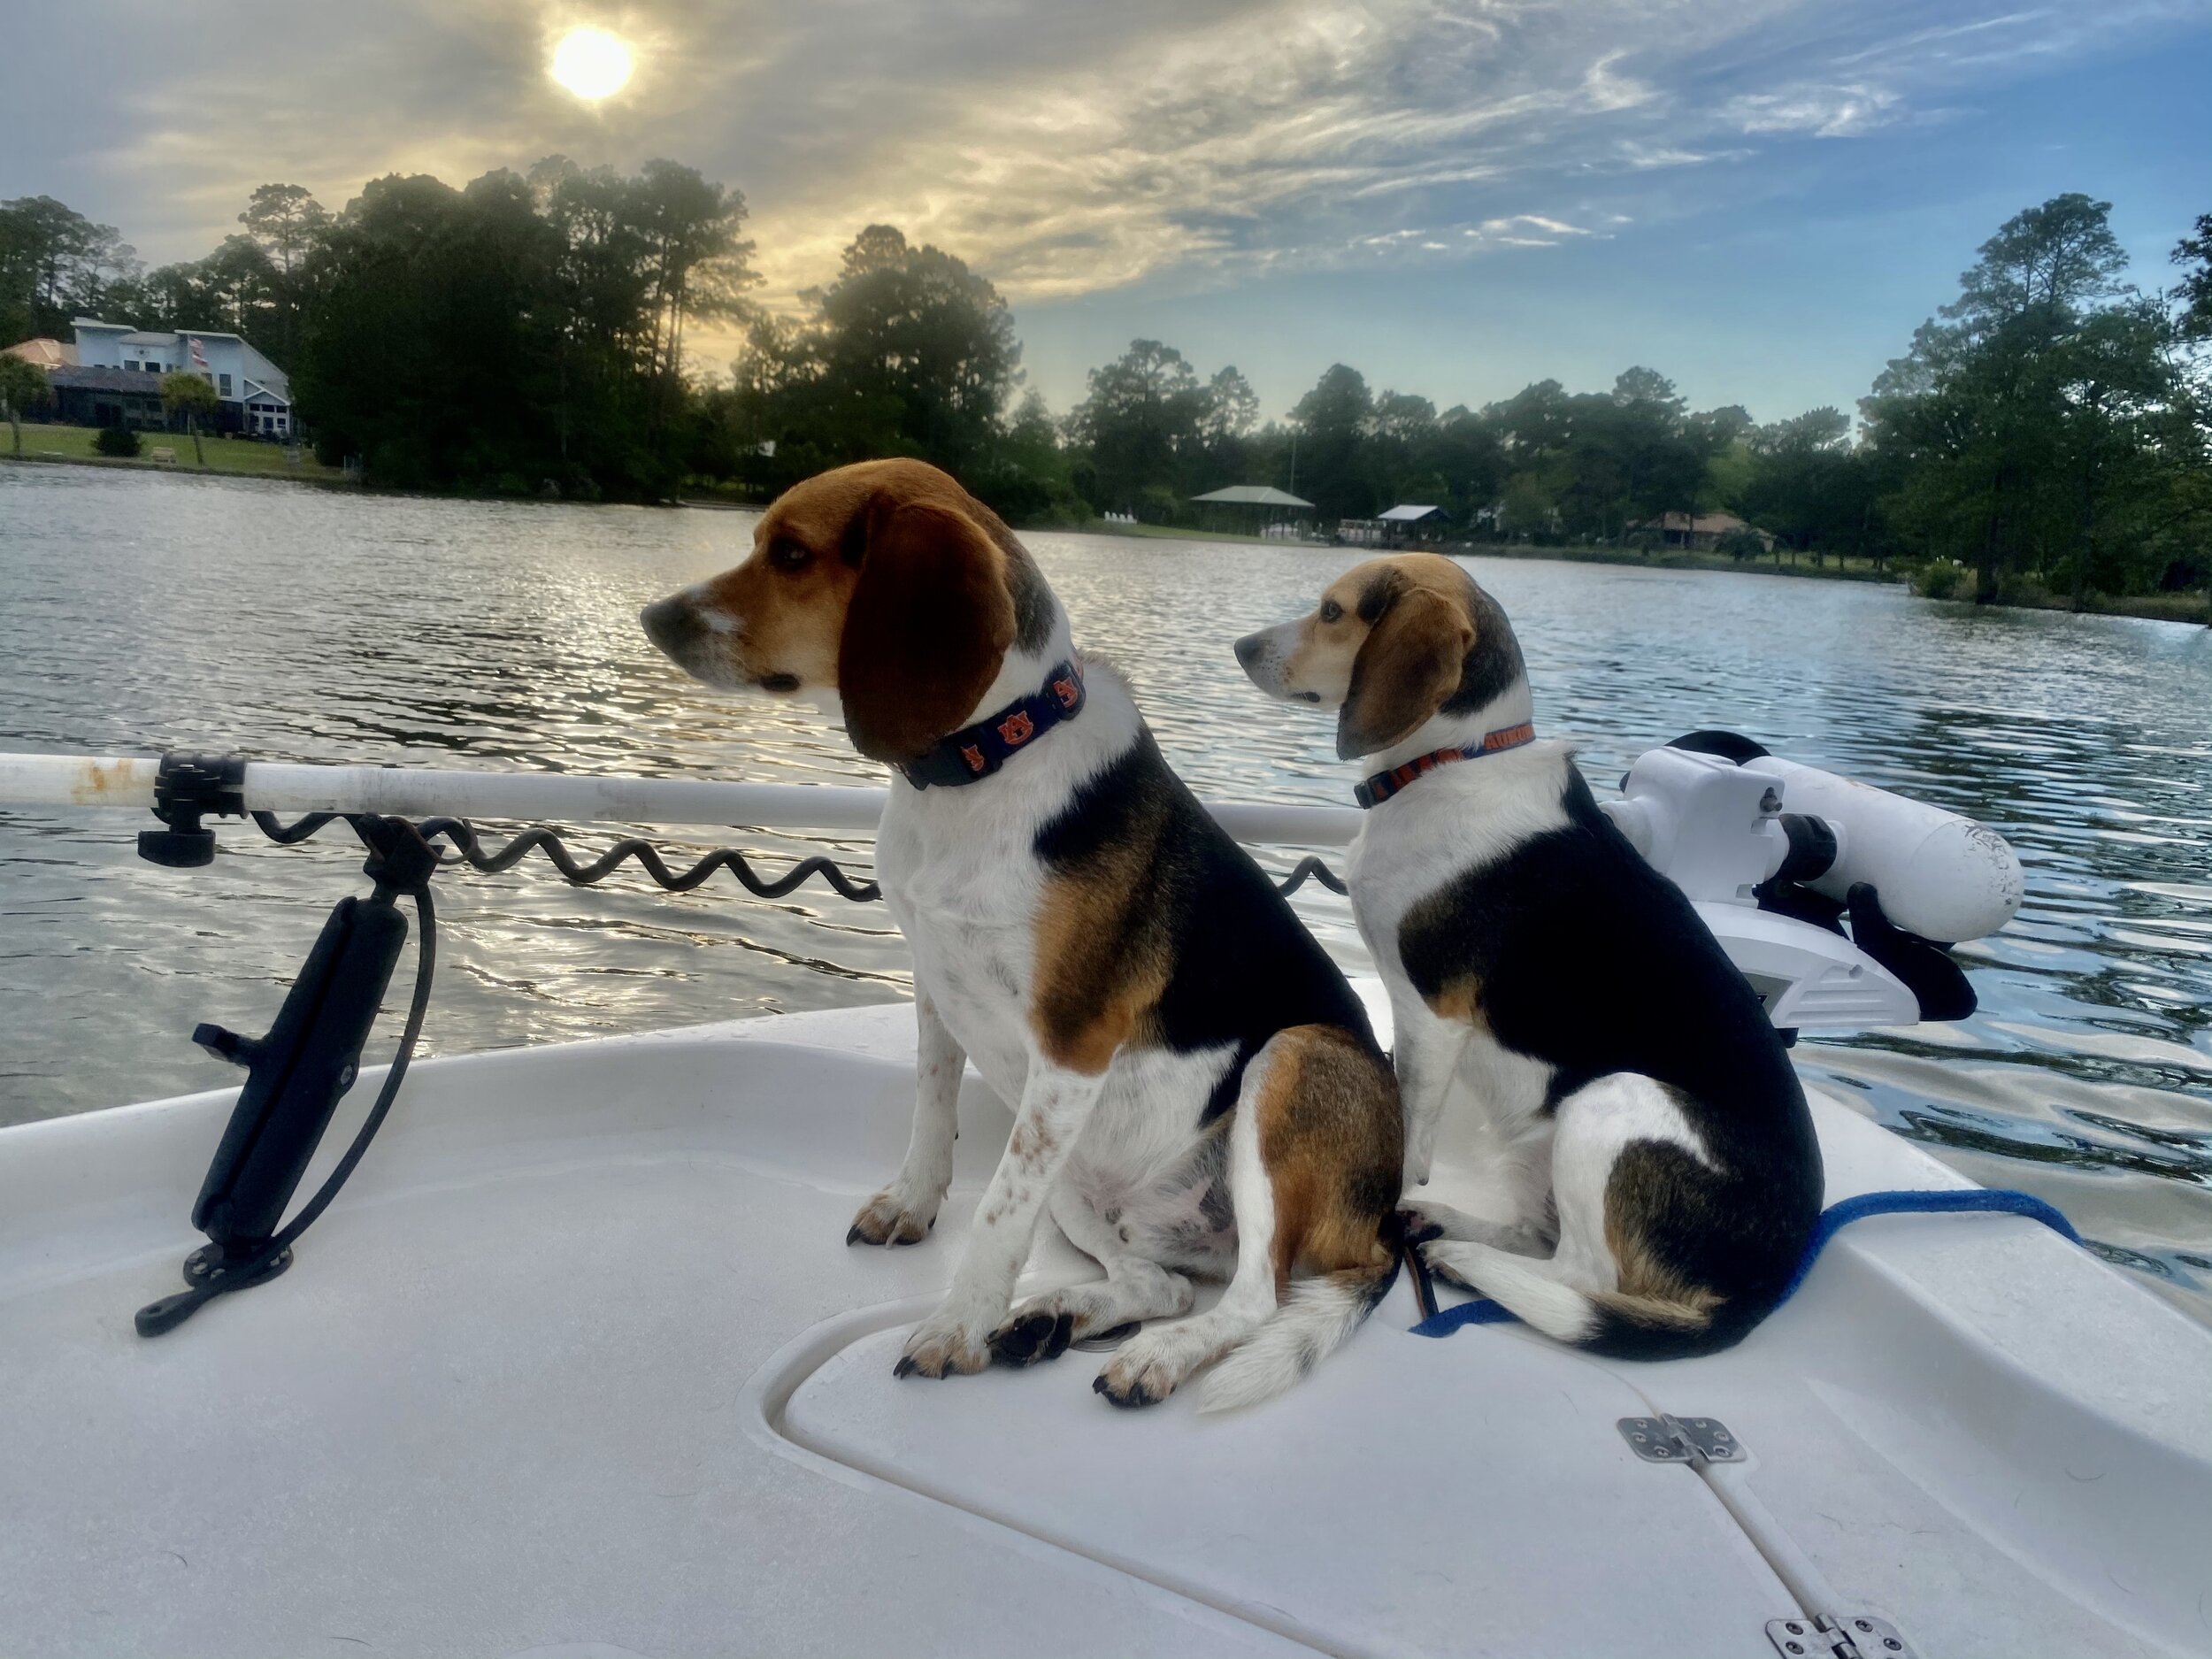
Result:
[[[936,1237],[847,1248],[911,1031],[425,1062],[292,1272],[157,1340],[232,1095],[0,1133],[0,1650],[1756,1659],[1829,1606],[1929,1659],[2212,1652],[2212,1332],[2028,1221],[1849,1228],[1708,1360],[1418,1338],[1400,1283],[1225,1420],[1084,1354],[896,1383],[1009,1121],[971,1077]],[[1829,1199],[1960,1183],[1816,1113]],[[1639,1462],[1652,1411],[1747,1462]]]

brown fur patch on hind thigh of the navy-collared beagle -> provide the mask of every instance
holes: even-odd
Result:
[[[1398,1203],[1405,1119],[1389,1066],[1338,1026],[1292,1026],[1252,1097],[1274,1188],[1276,1294],[1294,1272],[1389,1265],[1383,1219]]]

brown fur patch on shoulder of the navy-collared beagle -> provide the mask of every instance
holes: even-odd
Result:
[[[1166,801],[1130,803],[1128,832],[1044,885],[1031,1022],[1053,1064],[1097,1075],[1150,1020],[1172,973],[1150,869]]]

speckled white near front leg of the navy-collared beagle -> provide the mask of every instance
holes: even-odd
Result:
[[[1022,1110],[1013,1115],[1013,1137],[975,1206],[975,1230],[953,1287],[907,1338],[898,1376],[949,1376],[991,1363],[991,1332],[1013,1305],[1013,1281],[1029,1261],[1037,1214],[1104,1086],[1104,1071],[1088,1075],[1031,1055]]]

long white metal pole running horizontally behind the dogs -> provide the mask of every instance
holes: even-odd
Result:
[[[159,761],[124,754],[0,754],[0,807],[153,810]],[[405,818],[529,818],[533,823],[754,825],[874,834],[885,790],[830,783],[460,772],[420,765],[290,765],[248,761],[257,812],[389,812]],[[1343,847],[1360,827],[1352,807],[1208,803],[1239,841]]]

